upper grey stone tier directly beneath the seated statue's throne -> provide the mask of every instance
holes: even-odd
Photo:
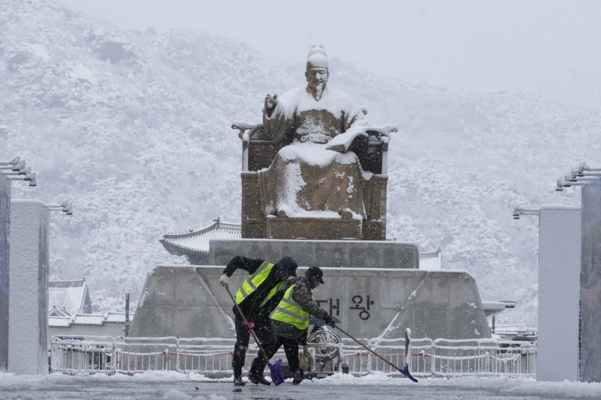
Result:
[[[299,266],[419,268],[415,243],[382,240],[211,239],[209,260],[226,265],[236,255],[277,262],[288,255]]]

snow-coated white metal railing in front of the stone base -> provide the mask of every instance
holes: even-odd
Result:
[[[406,359],[404,339],[361,339],[385,359],[402,368]],[[76,374],[136,374],[145,371],[195,372],[210,378],[233,374],[231,358],[235,339],[220,338],[134,338],[118,336],[53,336],[50,341],[50,371]],[[503,347],[501,347],[503,346]],[[305,371],[335,372],[341,366],[349,374],[375,371],[399,375],[398,371],[348,338],[340,344],[310,344],[309,353],[336,348],[337,362],[318,365],[315,357],[303,357]],[[535,377],[537,349],[532,342],[494,339],[411,339],[410,369],[416,377],[458,377],[465,375]],[[246,366],[257,356],[249,345]],[[284,358],[281,349],[272,360]],[[308,363],[308,364],[307,364]]]

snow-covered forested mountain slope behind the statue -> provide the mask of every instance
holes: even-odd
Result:
[[[260,121],[265,94],[304,85],[303,67],[210,34],[120,32],[52,2],[4,0],[1,153],[26,158],[39,182],[13,185],[13,197],[75,204],[72,217],[52,218],[51,274],[87,276],[96,309],[122,308],[154,265],[184,262],[159,244],[163,233],[238,220],[230,124]],[[456,95],[337,59],[331,85],[372,123],[400,128],[388,236],[441,247],[445,268],[469,270],[482,293],[523,302],[505,320],[535,324],[538,228],[511,210],[578,204],[554,181],[598,160],[599,112],[528,93]]]

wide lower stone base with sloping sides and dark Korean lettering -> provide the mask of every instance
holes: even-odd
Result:
[[[131,336],[234,338],[224,266],[157,266],[142,290]],[[298,275],[306,270],[299,267]],[[324,267],[313,299],[359,338],[490,338],[474,279],[465,271]],[[248,276],[231,277],[236,291]]]

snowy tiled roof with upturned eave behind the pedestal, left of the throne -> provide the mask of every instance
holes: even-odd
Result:
[[[168,233],[159,242],[174,255],[191,253],[208,253],[209,239],[240,239],[242,225],[232,222],[221,222],[219,218],[213,224],[182,233]]]

